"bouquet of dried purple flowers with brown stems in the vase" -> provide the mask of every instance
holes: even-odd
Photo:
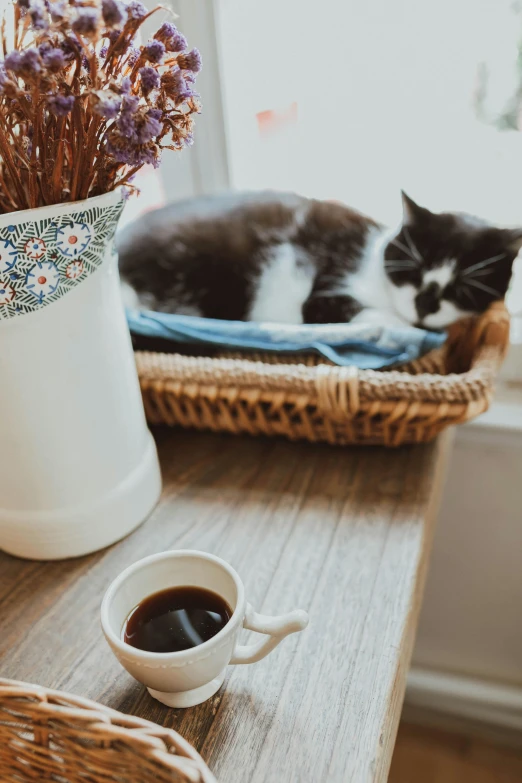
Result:
[[[192,142],[197,49],[138,1],[17,0],[0,29],[0,213],[132,187]]]

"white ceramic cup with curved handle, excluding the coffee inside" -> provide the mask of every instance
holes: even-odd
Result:
[[[197,647],[172,653],[139,650],[123,641],[130,612],[159,590],[203,587],[220,595],[233,610],[228,623]],[[168,707],[192,707],[221,687],[229,663],[255,663],[288,634],[302,631],[308,615],[302,610],[269,617],[254,612],[234,569],[221,558],[189,549],[145,557],[123,571],[105,593],[101,606],[103,633],[121,665]],[[255,644],[238,644],[242,628],[266,634]]]

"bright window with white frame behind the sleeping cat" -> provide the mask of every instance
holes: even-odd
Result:
[[[404,188],[522,223],[520,0],[176,5],[205,54],[196,192],[290,189],[393,224]],[[506,373],[522,378],[520,261],[508,305]]]

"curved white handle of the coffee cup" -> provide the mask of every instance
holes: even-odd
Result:
[[[307,625],[308,615],[302,609],[270,617],[254,612],[250,604],[247,604],[243,627],[249,631],[267,634],[268,639],[256,644],[238,644],[230,663],[256,663],[272,652],[285,636],[302,631]]]

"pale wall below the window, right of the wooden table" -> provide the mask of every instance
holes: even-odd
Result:
[[[522,685],[521,417],[457,433],[414,666]]]

